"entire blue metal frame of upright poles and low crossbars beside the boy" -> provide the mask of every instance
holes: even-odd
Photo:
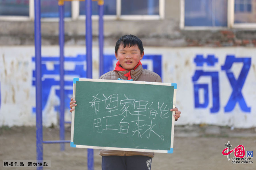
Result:
[[[65,150],[64,143],[70,143],[65,139],[64,121],[64,5],[59,5],[59,47],[60,47],[60,140],[43,141],[42,127],[42,73],[41,73],[41,0],[34,0],[35,7],[35,63],[36,63],[36,153],[37,160],[43,160],[43,143],[61,143],[61,150]],[[92,78],[92,2],[86,1],[86,56],[87,78]],[[100,74],[103,74],[103,4],[99,7],[99,49],[100,49]],[[94,169],[93,149],[88,151],[88,170]],[[38,170],[43,167],[37,167]]]

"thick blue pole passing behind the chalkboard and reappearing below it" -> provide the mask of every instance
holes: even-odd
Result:
[[[86,9],[86,63],[87,78],[92,78],[92,1],[85,1]],[[94,169],[93,149],[87,149],[87,168]]]

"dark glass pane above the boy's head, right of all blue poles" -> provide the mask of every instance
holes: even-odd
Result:
[[[159,0],[122,0],[122,15],[159,15]]]

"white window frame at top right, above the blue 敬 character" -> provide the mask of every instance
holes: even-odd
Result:
[[[227,9],[227,26],[185,26],[185,0],[180,0],[180,29],[184,30],[218,30],[218,29],[255,29],[256,23],[235,23],[235,0],[228,0],[228,9]]]

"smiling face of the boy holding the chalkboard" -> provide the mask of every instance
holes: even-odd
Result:
[[[126,70],[134,69],[143,56],[144,52],[141,54],[138,45],[131,47],[127,45],[123,48],[123,44],[120,44],[117,53],[115,52],[115,58],[118,59],[121,66]]]

